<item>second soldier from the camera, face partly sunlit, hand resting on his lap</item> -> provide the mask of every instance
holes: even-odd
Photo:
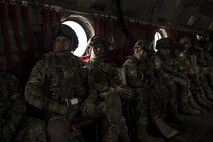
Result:
[[[98,109],[106,110],[110,115],[106,116],[105,140],[108,142],[129,142],[128,130],[125,119],[122,115],[121,101],[119,94],[130,95],[129,90],[121,88],[121,78],[118,75],[116,66],[109,62],[105,57],[105,40],[102,36],[93,36],[88,41],[88,47],[91,49],[91,57],[88,62],[89,73],[93,80],[90,85],[95,88],[97,99],[104,106]],[[110,122],[110,123],[109,123]]]

